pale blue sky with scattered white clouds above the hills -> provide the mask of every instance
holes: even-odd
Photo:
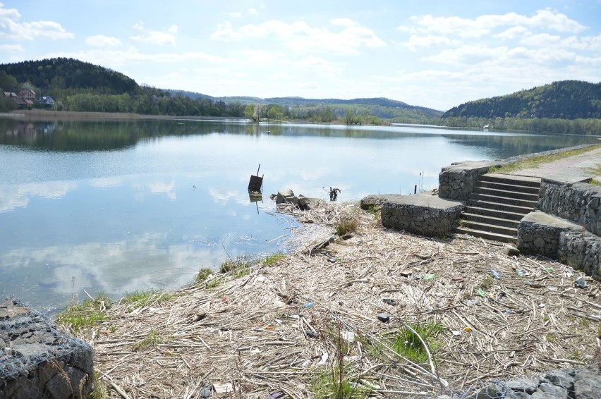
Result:
[[[0,63],[53,57],[214,97],[387,97],[445,111],[600,82],[601,0],[0,3]]]

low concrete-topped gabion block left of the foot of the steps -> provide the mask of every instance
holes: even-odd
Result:
[[[444,200],[429,194],[378,195],[370,196],[370,200],[377,200],[382,205],[384,227],[426,237],[443,237],[451,233],[464,205],[461,201]]]

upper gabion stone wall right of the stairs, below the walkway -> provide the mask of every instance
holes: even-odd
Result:
[[[542,179],[538,209],[601,235],[601,186]]]

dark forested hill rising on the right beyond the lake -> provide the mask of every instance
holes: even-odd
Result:
[[[601,118],[601,82],[564,80],[513,94],[466,102],[442,118]]]

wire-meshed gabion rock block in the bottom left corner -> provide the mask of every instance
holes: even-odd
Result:
[[[92,348],[18,300],[0,302],[0,398],[79,399],[92,392]]]

